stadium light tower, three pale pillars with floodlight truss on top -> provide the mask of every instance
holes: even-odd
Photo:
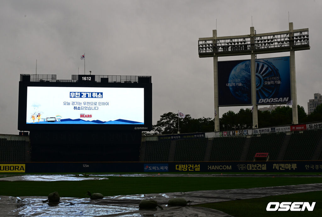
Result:
[[[296,77],[295,77],[295,51],[309,50],[308,28],[293,29],[293,23],[289,23],[289,30],[282,32],[270,32],[256,34],[254,27],[250,28],[249,35],[217,37],[217,30],[213,30],[213,37],[199,38],[198,53],[200,58],[213,58],[213,82],[214,82],[214,112],[219,112],[218,103],[218,57],[251,55],[251,105],[252,127],[258,128],[257,118],[257,90],[260,88],[260,80],[263,80],[255,68],[256,54],[290,52],[290,92],[292,102],[292,123],[298,124]],[[220,72],[219,72],[220,73]],[[266,92],[269,90],[265,90]],[[270,104],[286,104],[270,103]],[[219,115],[215,115],[215,131],[219,131]]]

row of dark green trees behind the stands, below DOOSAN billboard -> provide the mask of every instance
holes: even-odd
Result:
[[[322,104],[317,106],[313,113],[307,115],[303,106],[298,106],[298,122],[316,122],[322,121]],[[258,126],[272,127],[279,125],[292,124],[292,108],[289,106],[277,107],[272,112],[258,111]],[[214,130],[213,118],[198,118],[194,119],[189,114],[185,115],[185,118],[179,119],[179,127],[181,133],[193,133],[193,132],[210,132]],[[251,109],[240,109],[236,114],[233,111],[228,111],[223,114],[219,119],[220,131],[243,129],[252,127],[252,113]],[[160,116],[160,120],[153,125],[153,133],[146,133],[144,135],[156,135],[156,134],[176,134],[178,131],[178,114],[173,112],[164,113]]]

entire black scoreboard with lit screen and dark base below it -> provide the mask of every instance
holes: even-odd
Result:
[[[20,77],[18,130],[30,131],[32,162],[139,161],[151,129],[151,76]]]

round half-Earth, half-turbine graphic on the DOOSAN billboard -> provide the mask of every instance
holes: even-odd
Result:
[[[279,93],[281,78],[279,70],[269,61],[255,60],[256,99],[272,98]],[[246,60],[236,65],[229,76],[232,95],[242,103],[251,104],[251,61]]]

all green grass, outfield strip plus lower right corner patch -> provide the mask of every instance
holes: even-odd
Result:
[[[309,175],[309,174],[304,174]],[[8,175],[12,176],[12,174]],[[93,175],[94,176],[94,175]],[[104,176],[100,176],[104,177]],[[104,196],[220,190],[322,183],[322,177],[165,177],[106,176],[108,180],[83,181],[0,181],[0,195],[48,196],[58,191],[61,197],[88,197],[86,191]],[[198,204],[232,216],[322,216],[321,191],[270,196],[218,203]],[[189,198],[186,198],[187,200]],[[269,202],[316,202],[313,212],[267,212]]]

